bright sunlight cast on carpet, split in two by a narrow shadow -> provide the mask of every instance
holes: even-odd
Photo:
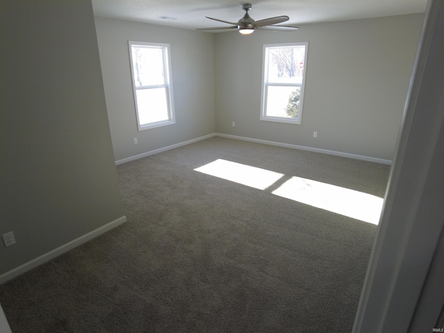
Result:
[[[283,173],[221,159],[194,171],[262,190],[285,176]],[[384,202],[383,198],[372,194],[296,176],[289,178],[271,193],[375,225],[379,223]]]

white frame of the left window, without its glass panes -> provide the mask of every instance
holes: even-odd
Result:
[[[163,70],[164,70],[164,84],[162,85],[144,85],[142,87],[137,87],[135,83],[135,75],[134,75],[134,66],[133,66],[133,52],[132,46],[145,46],[162,49],[163,55]],[[173,103],[173,85],[171,78],[171,57],[170,57],[170,44],[164,43],[153,43],[153,42],[135,42],[128,41],[128,48],[130,51],[130,67],[131,67],[131,80],[133,82],[133,92],[134,92],[134,101],[135,101],[135,111],[137,117],[137,129],[140,130],[148,130],[150,128],[156,128],[160,126],[167,126],[176,123],[176,116],[174,113],[174,103]],[[139,110],[137,104],[137,90],[139,89],[153,89],[164,87],[167,93],[167,108],[168,108],[168,119],[162,121],[155,121],[152,123],[141,124],[139,120]]]

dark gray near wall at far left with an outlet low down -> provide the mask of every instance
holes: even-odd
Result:
[[[123,216],[90,0],[1,2],[0,274]]]

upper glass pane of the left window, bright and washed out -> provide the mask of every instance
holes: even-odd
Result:
[[[136,87],[163,85],[163,52],[160,47],[131,46],[133,53],[133,74]]]

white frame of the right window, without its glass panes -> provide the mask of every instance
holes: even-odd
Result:
[[[268,83],[268,51],[270,49],[283,49],[291,46],[305,46],[305,58],[304,58],[304,71],[302,74],[302,83]],[[305,91],[305,76],[307,75],[307,54],[308,54],[308,42],[294,42],[294,43],[280,43],[280,44],[264,44],[262,53],[262,91],[261,91],[261,113],[260,120],[263,121],[275,121],[279,123],[302,123],[302,105],[304,101]],[[266,114],[268,87],[300,87],[300,100],[299,100],[299,114],[298,118],[290,117],[273,117]]]

